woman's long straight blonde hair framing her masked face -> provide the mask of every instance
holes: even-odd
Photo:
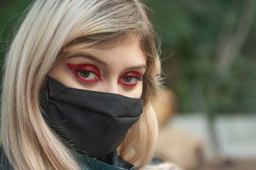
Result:
[[[144,111],[118,153],[138,169],[148,163],[157,139],[150,102],[160,87],[156,74],[161,64],[145,9],[138,0],[38,0],[29,7],[4,62],[1,144],[14,169],[81,169],[74,151],[45,123],[40,89],[63,53],[110,48],[118,45],[116,39],[134,33],[140,36],[141,50],[148,57]]]

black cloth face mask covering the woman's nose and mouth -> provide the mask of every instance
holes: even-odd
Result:
[[[91,157],[116,150],[143,111],[141,99],[74,89],[48,78],[40,92],[45,121],[78,152]]]

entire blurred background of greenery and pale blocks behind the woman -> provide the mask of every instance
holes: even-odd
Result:
[[[0,0],[1,61],[31,2]],[[188,170],[256,169],[256,1],[145,3],[162,42],[167,87],[154,106],[156,161]]]

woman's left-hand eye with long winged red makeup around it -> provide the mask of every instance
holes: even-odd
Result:
[[[95,81],[102,81],[99,69],[96,66],[93,66],[92,64],[71,64],[71,63],[67,63],[66,66],[81,81],[84,81],[86,83],[93,83]]]

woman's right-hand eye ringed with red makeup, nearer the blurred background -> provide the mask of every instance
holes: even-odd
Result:
[[[121,78],[118,80],[118,83],[122,83],[124,85],[134,87],[138,81],[141,81],[143,78],[142,74],[136,72],[136,71],[131,71],[123,74]]]

